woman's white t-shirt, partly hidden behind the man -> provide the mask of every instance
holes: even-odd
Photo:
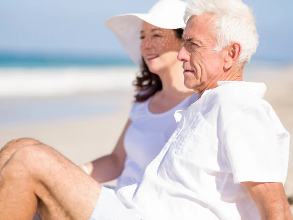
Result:
[[[129,115],[132,122],[124,138],[127,157],[116,190],[142,179],[146,166],[160,153],[177,127],[175,111],[186,110],[197,99],[196,93],[173,109],[160,114],[148,110],[151,98],[146,102],[133,104]]]

